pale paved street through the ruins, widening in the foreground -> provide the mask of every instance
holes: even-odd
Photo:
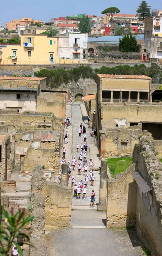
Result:
[[[86,126],[87,143],[89,150],[87,154],[87,162],[92,158],[95,168],[100,166],[99,152],[95,146],[94,139],[90,136],[91,129],[83,122],[87,120],[87,112],[84,104],[75,102],[67,105],[66,116],[71,116],[72,125],[68,128],[69,143],[65,145],[67,149],[66,160],[71,161],[76,153],[76,144],[83,142],[83,137],[78,137],[78,128],[80,123]],[[86,121],[85,121],[86,122]],[[65,130],[66,131],[66,130]],[[84,179],[84,172],[77,175],[77,168],[72,172],[76,182]],[[48,256],[72,256],[72,255],[88,255],[88,256],[142,256],[140,241],[133,230],[122,229],[106,229],[106,212],[97,211],[96,203],[99,196],[100,175],[98,171],[94,172],[96,182],[95,185],[88,186],[86,199],[73,198],[71,228],[58,228],[47,234]],[[69,181],[69,186],[71,183]],[[89,198],[92,188],[95,190],[95,207],[89,208]]]

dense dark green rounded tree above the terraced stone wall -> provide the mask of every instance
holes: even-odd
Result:
[[[135,36],[125,35],[119,38],[119,50],[120,52],[139,52],[140,45],[137,44]]]

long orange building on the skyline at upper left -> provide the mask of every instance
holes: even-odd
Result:
[[[17,25],[31,24],[31,23],[42,23],[43,20],[32,20],[32,18],[22,18],[22,20],[12,20],[11,22],[6,22],[6,29],[17,30]]]

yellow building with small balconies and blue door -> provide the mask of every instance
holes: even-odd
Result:
[[[63,37],[63,41],[66,40]],[[21,44],[0,44],[0,64],[73,64],[86,59],[59,58],[59,37],[21,35]]]

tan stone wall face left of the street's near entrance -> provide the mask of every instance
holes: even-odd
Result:
[[[42,193],[45,197],[45,229],[70,227],[73,189],[47,182]]]

